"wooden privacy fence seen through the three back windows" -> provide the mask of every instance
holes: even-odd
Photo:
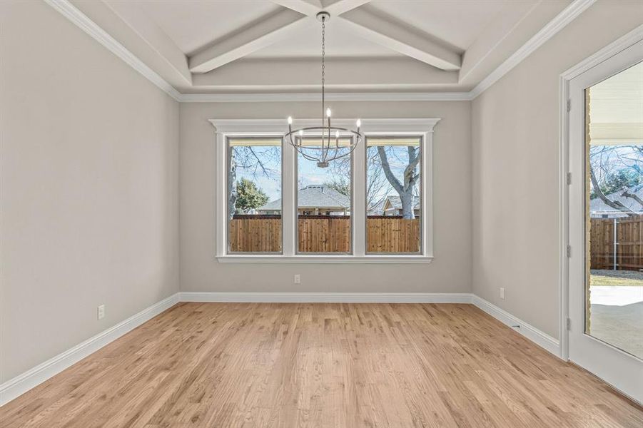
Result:
[[[232,253],[279,253],[280,215],[235,215],[228,227]],[[400,216],[368,216],[369,253],[417,253],[420,251],[420,220]],[[300,253],[349,253],[350,215],[300,215]]]

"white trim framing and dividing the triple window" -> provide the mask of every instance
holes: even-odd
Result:
[[[333,119],[335,126],[353,128],[356,119]],[[288,126],[281,119],[211,119],[216,130],[216,258],[221,263],[430,263],[433,259],[433,128],[440,118],[362,119],[365,136],[422,136],[420,191],[422,192],[422,253],[410,255],[367,255],[366,201],[363,178],[366,176],[365,141],[353,152],[353,254],[295,254],[294,203],[296,191],[295,149],[283,144],[283,254],[228,254],[226,221],[226,144],[228,137],[283,136]],[[298,127],[316,126],[319,119],[297,119]],[[293,209],[290,209],[293,208]]]

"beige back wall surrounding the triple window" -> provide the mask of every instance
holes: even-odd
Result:
[[[215,132],[208,119],[316,117],[319,103],[181,104],[181,290],[470,292],[470,103],[330,103],[333,116],[442,118],[434,134],[430,265],[231,264],[215,255]],[[285,126],[285,120],[284,120]],[[293,275],[301,274],[301,284]]]

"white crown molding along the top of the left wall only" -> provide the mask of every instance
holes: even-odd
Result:
[[[44,0],[54,10],[58,11],[66,19],[76,24],[79,29],[85,31],[89,36],[93,37],[99,44],[105,46],[112,54],[118,56],[125,61],[128,66],[141,73],[148,81],[154,83],[162,91],[166,92],[169,96],[176,101],[181,101],[181,93],[179,93],[170,83],[165,81],[156,71],[146,66],[138,56],[134,55],[125,46],[120,44],[116,39],[110,36],[107,31],[103,30],[98,24],[88,18],[86,14],[79,11],[68,0]]]

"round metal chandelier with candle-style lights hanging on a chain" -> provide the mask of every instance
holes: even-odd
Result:
[[[358,143],[362,141],[363,135],[360,133],[361,121],[355,123],[357,126],[357,131],[353,131],[348,128],[340,128],[338,126],[333,126],[330,123],[330,108],[325,106],[325,39],[326,39],[326,21],[330,19],[330,14],[325,11],[321,11],[317,14],[318,21],[322,23],[322,64],[321,64],[321,76],[322,76],[322,117],[320,126],[308,126],[307,128],[298,128],[293,129],[293,118],[288,117],[288,133],[285,134],[284,138],[287,138],[298,153],[301,153],[303,158],[308,159],[308,161],[317,162],[318,168],[328,168],[328,163],[330,161],[335,161],[335,159],[343,158],[349,156],[350,153],[353,153],[355,147]],[[325,114],[325,117],[324,117]],[[331,141],[331,136],[333,136],[333,141]],[[306,136],[307,141],[304,141]],[[293,138],[294,136],[294,138]],[[318,141],[315,141],[319,138]],[[309,142],[310,140],[312,142]],[[340,142],[341,141],[341,142]]]

